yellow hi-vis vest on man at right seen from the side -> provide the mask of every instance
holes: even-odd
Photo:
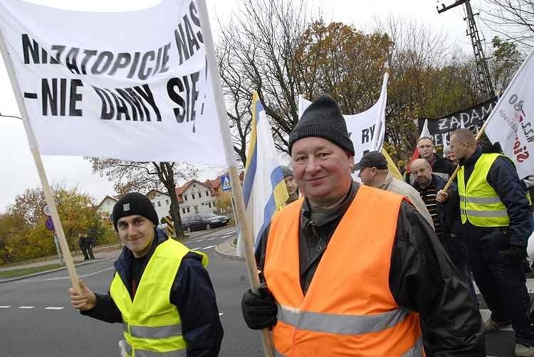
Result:
[[[464,166],[458,171],[461,223],[469,221],[478,227],[503,227],[510,224],[506,206],[486,177],[491,165],[502,154],[482,154],[476,161],[467,184]],[[504,156],[506,157],[506,156]]]

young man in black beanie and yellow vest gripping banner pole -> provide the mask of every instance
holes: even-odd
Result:
[[[125,356],[217,356],[223,330],[208,257],[192,252],[156,228],[157,213],[147,196],[128,193],[113,208],[122,248],[108,294],[70,299],[81,314],[122,322]]]

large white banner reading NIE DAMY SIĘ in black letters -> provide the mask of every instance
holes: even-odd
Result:
[[[195,1],[99,13],[3,0],[0,30],[41,154],[226,166]]]

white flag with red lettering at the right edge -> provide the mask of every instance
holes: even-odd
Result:
[[[491,142],[501,143],[520,179],[534,174],[533,54],[525,59],[486,119],[486,135]]]

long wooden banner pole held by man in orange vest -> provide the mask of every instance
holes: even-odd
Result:
[[[228,114],[226,113],[226,105],[224,103],[224,96],[221,86],[221,78],[219,77],[219,66],[217,65],[215,46],[213,37],[211,36],[211,26],[209,24],[208,10],[206,8],[205,0],[198,0],[199,18],[202,29],[202,37],[204,39],[204,46],[206,48],[206,60],[209,70],[209,78],[214,89],[214,100],[216,105],[216,112],[219,114],[219,124],[221,127],[221,135],[224,141],[224,154],[226,156],[226,163],[228,164],[228,173],[232,182],[232,194],[235,198],[236,213],[239,220],[239,228],[241,230],[241,237],[244,243],[244,255],[246,267],[248,270],[248,279],[250,280],[251,289],[257,292],[260,287],[260,280],[258,277],[258,269],[256,267],[256,259],[254,257],[254,243],[252,238],[251,223],[245,214],[245,201],[243,198],[243,189],[241,188],[241,181],[239,180],[239,172],[237,170],[237,162],[234,156],[234,146],[231,142],[230,128],[228,125]],[[261,341],[263,343],[263,353],[266,357],[273,357],[273,344],[271,335],[268,329],[261,331]]]

